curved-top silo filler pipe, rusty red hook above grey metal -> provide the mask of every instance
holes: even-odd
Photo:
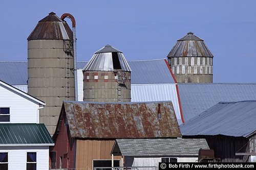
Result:
[[[66,17],[70,18],[72,21],[72,31],[73,31],[73,50],[74,50],[74,85],[75,85],[75,101],[78,101],[78,92],[77,92],[77,66],[76,66],[76,21],[73,15],[65,13],[61,16],[61,20],[64,20]]]

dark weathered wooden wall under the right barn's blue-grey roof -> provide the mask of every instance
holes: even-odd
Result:
[[[223,135],[206,137],[209,148],[214,150],[215,157],[221,158],[222,162],[244,162],[244,156],[236,156],[236,152],[246,152],[248,140]]]

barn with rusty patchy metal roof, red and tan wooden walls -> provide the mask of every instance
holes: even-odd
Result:
[[[51,168],[111,167],[116,139],[181,137],[172,102],[65,101],[57,127]],[[114,156],[114,166],[122,166],[120,156]]]

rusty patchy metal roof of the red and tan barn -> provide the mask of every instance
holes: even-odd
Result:
[[[61,110],[61,113],[66,113],[71,136],[76,138],[181,137],[172,102],[91,103],[63,101]],[[159,112],[160,119],[158,117]]]

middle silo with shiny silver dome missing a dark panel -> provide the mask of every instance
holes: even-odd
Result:
[[[131,71],[121,51],[102,47],[83,68],[83,101],[131,102]]]

